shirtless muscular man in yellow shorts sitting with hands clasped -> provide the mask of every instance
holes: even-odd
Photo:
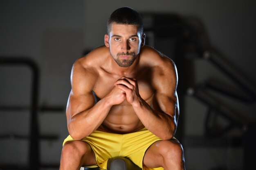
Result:
[[[105,46],[72,68],[66,112],[70,135],[60,169],[106,169],[111,157],[128,157],[147,170],[184,169],[182,146],[173,138],[179,116],[175,64],[144,46],[137,11],[117,9],[107,27]]]

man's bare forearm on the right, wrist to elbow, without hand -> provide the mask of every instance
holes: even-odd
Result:
[[[144,126],[161,139],[171,139],[176,131],[176,119],[166,113],[153,110],[143,99],[132,107]]]

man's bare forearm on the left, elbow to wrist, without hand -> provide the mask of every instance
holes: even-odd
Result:
[[[108,115],[112,105],[105,98],[96,105],[70,118],[68,131],[72,138],[82,139],[95,131]]]

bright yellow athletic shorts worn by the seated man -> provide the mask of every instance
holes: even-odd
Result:
[[[69,135],[64,140],[63,145],[65,142],[72,140],[74,139]],[[94,131],[88,137],[81,139],[81,141],[85,141],[91,146],[95,154],[97,166],[102,170],[107,169],[108,159],[112,157],[127,157],[137,166],[143,168],[143,170],[163,170],[164,168],[162,167],[143,167],[143,158],[146,150],[158,140],[161,139],[146,128],[124,135]],[[90,166],[90,168],[93,167],[95,166]]]

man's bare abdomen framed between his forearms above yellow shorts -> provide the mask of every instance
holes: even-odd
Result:
[[[132,106],[128,103],[112,106],[99,131],[109,133],[132,133],[144,128]]]

